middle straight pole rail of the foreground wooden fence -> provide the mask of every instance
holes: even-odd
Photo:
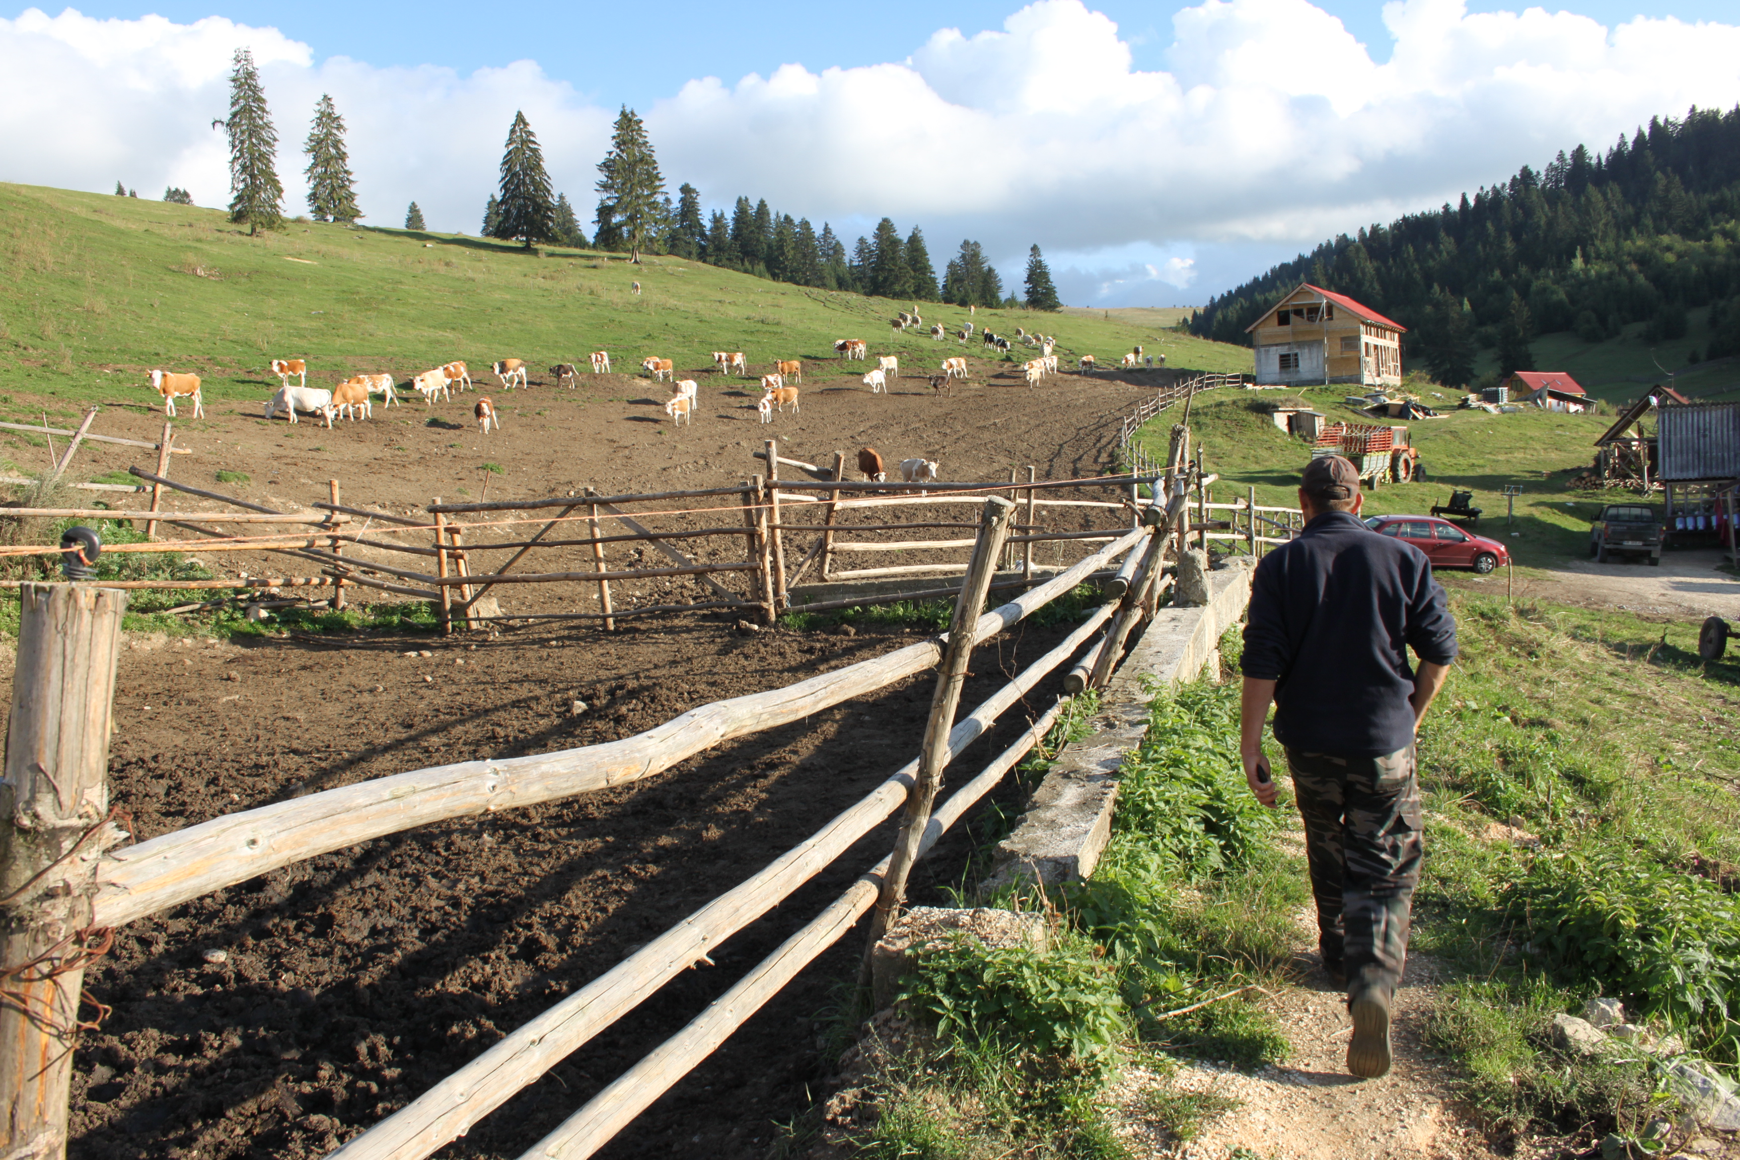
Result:
[[[1075,656],[1082,640],[1112,614],[1112,607],[1100,609],[1063,643],[1034,661],[962,718],[948,734],[947,758],[954,760],[966,751],[1004,711]],[[854,842],[880,826],[907,800],[917,770],[919,762],[914,758],[762,871],[726,890],[579,991],[517,1028],[404,1110],[332,1153],[332,1160],[421,1160],[465,1136],[472,1125],[522,1087],[536,1082],[670,979],[705,960],[713,948],[778,906]]]

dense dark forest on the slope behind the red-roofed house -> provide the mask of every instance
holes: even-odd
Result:
[[[1740,353],[1740,106],[1653,117],[1606,153],[1576,146],[1542,170],[1481,188],[1458,205],[1340,235],[1209,299],[1188,329],[1249,344],[1244,332],[1300,282],[1347,294],[1409,332],[1404,355],[1451,386],[1481,348],[1500,370],[1531,370],[1536,334],[1601,343],[1644,323],[1648,343],[1684,337],[1710,306],[1703,357]],[[1691,351],[1696,358],[1698,351]]]

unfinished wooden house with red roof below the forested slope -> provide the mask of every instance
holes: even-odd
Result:
[[[1345,294],[1302,282],[1246,334],[1256,344],[1258,386],[1401,386],[1406,329]]]

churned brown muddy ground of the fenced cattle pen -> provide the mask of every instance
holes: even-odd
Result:
[[[940,457],[945,478],[1007,478],[1011,464],[1028,463],[1042,478],[1065,478],[1110,466],[1115,419],[1148,390],[1074,377],[1037,391],[971,386],[952,398],[914,395],[912,384],[875,397],[823,390],[806,395],[800,416],[764,426],[746,397],[731,393],[736,386],[715,379],[703,383],[705,417],[677,431],[651,421],[661,416],[651,402],[637,402],[663,390],[632,379],[585,386],[517,395],[487,450],[473,430],[428,426],[432,417],[458,424],[458,402],[393,409],[390,419],[378,412],[374,423],[334,431],[268,426],[212,403],[204,423],[177,426],[177,442],[195,454],[177,457],[174,471],[218,490],[230,487],[214,482],[216,470],[242,471],[252,482],[237,485],[240,494],[282,508],[324,499],[325,480],[338,477],[348,503],[402,511],[435,494],[463,499],[459,487],[478,494],[484,454],[505,468],[492,497],[734,483],[755,470],[750,450],[760,438],[778,433],[792,440],[786,454],[813,463],[868,442],[887,457]],[[607,402],[606,390],[628,402]],[[97,430],[148,438],[160,421],[110,410]],[[150,452],[87,443],[87,471],[150,466],[139,457]],[[969,510],[940,511],[966,518]],[[284,557],[207,563],[311,570]],[[693,581],[670,588],[705,598]],[[505,595],[522,610],[527,600]],[[539,600],[592,607],[586,590]],[[451,640],[139,637],[120,661],[113,795],[146,838],[405,769],[623,737],[915,638],[875,628],[740,635],[734,619],[684,614],[618,633],[559,623]],[[964,704],[1067,631],[1025,628],[981,649]],[[433,656],[405,657],[407,649]],[[87,976],[113,1012],[80,1043],[70,1155],[324,1155],[856,802],[917,753],[931,685],[917,677],[635,786],[381,838],[132,923]],[[959,762],[960,777],[1053,694],[1051,685],[1035,690]],[[588,706],[579,715],[576,699]],[[995,809],[1018,802],[1006,784]],[[974,817],[994,824],[987,809]],[[717,951],[715,967],[666,986],[440,1155],[519,1157],[889,843],[884,826]],[[919,873],[915,899],[941,901],[969,856],[969,837],[950,835]],[[207,951],[224,960],[207,962]],[[818,1035],[860,951],[861,937],[847,936],[600,1155],[766,1155],[774,1123],[807,1106],[807,1085],[825,1071]]]

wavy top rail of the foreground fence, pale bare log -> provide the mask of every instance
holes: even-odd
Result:
[[[985,638],[1016,624],[1145,534],[1145,529],[1134,530],[983,614],[974,637]],[[941,640],[922,640],[783,689],[703,704],[621,741],[390,774],[176,830],[103,859],[90,922],[117,927],[268,870],[428,823],[553,802],[651,777],[724,741],[802,720],[922,673],[941,657]]]

